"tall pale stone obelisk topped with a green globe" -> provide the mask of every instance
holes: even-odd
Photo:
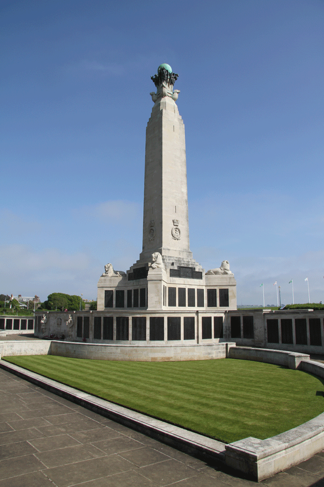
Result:
[[[173,90],[178,75],[161,64],[151,79],[156,93],[146,128],[143,250],[139,262],[159,252],[164,263],[198,265],[189,249],[184,123]]]

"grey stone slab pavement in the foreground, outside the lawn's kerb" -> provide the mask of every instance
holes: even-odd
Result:
[[[0,369],[0,487],[248,487],[237,477]],[[324,487],[324,451],[263,480]]]

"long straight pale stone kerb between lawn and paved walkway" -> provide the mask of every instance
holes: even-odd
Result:
[[[60,382],[43,377],[42,375],[1,359],[0,367],[79,406],[83,406],[110,420],[146,434],[158,441],[162,441],[191,456],[212,462],[213,464],[225,464],[225,443],[65,386],[64,384],[60,384]]]

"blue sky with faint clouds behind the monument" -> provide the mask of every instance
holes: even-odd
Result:
[[[237,302],[324,302],[322,0],[3,0],[0,293],[83,293],[142,249],[145,127],[179,74],[190,248]]]

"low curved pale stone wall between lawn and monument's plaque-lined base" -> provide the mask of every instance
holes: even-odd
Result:
[[[234,344],[232,344],[234,345]],[[124,345],[52,341],[51,355],[94,360],[171,362],[224,359],[226,343],[202,345]]]

